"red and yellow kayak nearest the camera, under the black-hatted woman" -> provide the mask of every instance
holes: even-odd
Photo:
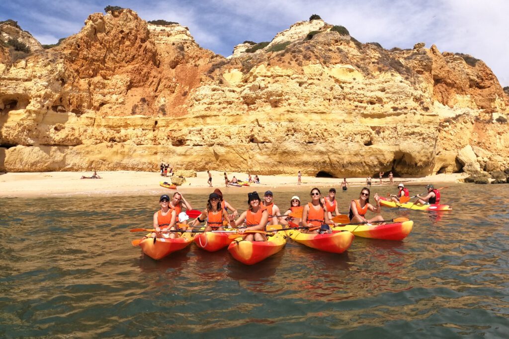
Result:
[[[253,265],[275,255],[286,244],[286,236],[282,232],[277,232],[273,236],[267,236],[267,240],[247,241],[239,237],[228,246],[228,251],[233,258],[242,264]]]

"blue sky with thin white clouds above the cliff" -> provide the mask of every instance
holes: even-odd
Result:
[[[244,40],[270,41],[297,21],[318,14],[347,27],[361,42],[385,48],[436,44],[483,60],[509,86],[509,1],[505,0],[3,0],[0,20],[13,19],[41,43],[79,32],[88,15],[107,5],[131,8],[145,20],[164,19],[189,27],[200,46],[228,56]]]

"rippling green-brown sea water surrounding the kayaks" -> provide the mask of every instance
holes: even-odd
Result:
[[[244,210],[235,189],[225,199]],[[338,191],[340,211],[359,191]],[[286,210],[295,194],[309,190],[274,200]],[[158,196],[2,199],[0,336],[507,337],[508,196],[509,185],[449,185],[454,211],[383,209],[414,220],[404,241],[356,237],[341,255],[289,241],[254,266],[194,244],[144,256],[128,230],[151,227]]]

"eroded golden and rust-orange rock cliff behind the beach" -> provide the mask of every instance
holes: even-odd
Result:
[[[256,53],[225,59],[181,25],[147,24],[125,9],[92,14],[60,46],[12,65],[0,51],[0,170],[154,170],[165,161],[359,177],[509,166],[499,119],[509,98],[482,61],[436,46],[387,51],[330,27],[296,23]]]

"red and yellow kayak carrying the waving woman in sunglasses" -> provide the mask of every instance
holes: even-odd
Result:
[[[332,232],[350,231],[353,235],[362,238],[383,239],[383,240],[403,240],[413,228],[413,221],[395,222],[388,224],[362,224],[335,226]]]

